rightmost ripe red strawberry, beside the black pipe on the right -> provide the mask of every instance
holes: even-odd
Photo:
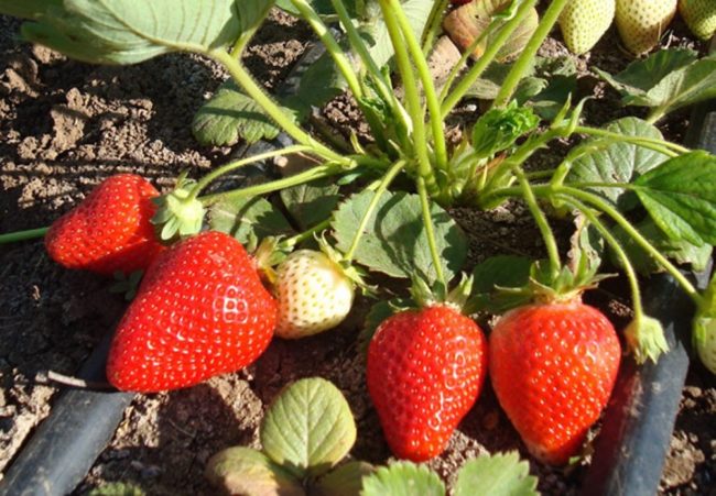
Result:
[[[621,350],[597,309],[573,301],[506,313],[490,334],[490,377],[530,452],[564,464],[611,394]]]

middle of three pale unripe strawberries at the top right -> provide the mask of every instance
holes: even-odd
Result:
[[[625,46],[641,55],[657,46],[679,0],[617,0],[615,20]]]

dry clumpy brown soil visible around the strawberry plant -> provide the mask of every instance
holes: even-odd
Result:
[[[89,66],[18,43],[18,25],[0,18],[0,232],[50,223],[118,172],[131,170],[167,188],[181,170],[199,176],[239,148],[200,147],[188,131],[195,110],[226,77],[211,62],[172,55],[131,67]],[[275,88],[307,38],[305,26],[274,15],[246,62],[259,80]],[[558,42],[551,43],[545,54],[564,51]],[[612,69],[626,60],[608,43],[593,57]],[[596,79],[587,89],[610,91]],[[605,107],[587,107],[593,122],[626,112],[614,106],[607,112]],[[350,115],[345,106],[333,108]],[[670,136],[679,139],[685,123],[683,115],[670,121]],[[554,155],[539,159],[552,162]],[[539,251],[522,210],[516,205],[489,216],[455,211],[473,233],[471,260]],[[111,284],[58,267],[40,241],[0,246],[0,473],[52,411],[58,389],[37,379],[48,370],[74,374],[121,316],[126,304],[108,293]],[[214,494],[203,477],[207,459],[234,444],[258,447],[258,425],[268,403],[286,383],[314,375],[333,381],[348,398],[360,433],[352,455],[384,463],[390,453],[366,394],[355,344],[365,305],[358,307],[339,330],[300,342],[275,340],[245,371],[184,390],[138,395],[76,494],[109,481],[134,482],[152,495]],[[612,299],[607,307],[619,321],[623,306]],[[715,414],[713,377],[703,368],[692,371],[664,470],[664,494],[713,491]],[[448,450],[431,465],[451,480],[470,458],[516,448],[525,455],[488,387]],[[575,494],[587,463],[588,458],[561,471],[532,462],[532,472],[545,494]]]

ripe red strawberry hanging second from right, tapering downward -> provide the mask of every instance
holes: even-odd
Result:
[[[445,450],[487,372],[485,335],[444,305],[384,320],[368,348],[368,393],[393,453],[415,462]]]

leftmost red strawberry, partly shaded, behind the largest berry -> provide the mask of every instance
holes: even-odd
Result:
[[[47,253],[65,267],[104,275],[147,268],[163,247],[150,222],[158,196],[148,180],[133,174],[105,179],[52,224]]]

